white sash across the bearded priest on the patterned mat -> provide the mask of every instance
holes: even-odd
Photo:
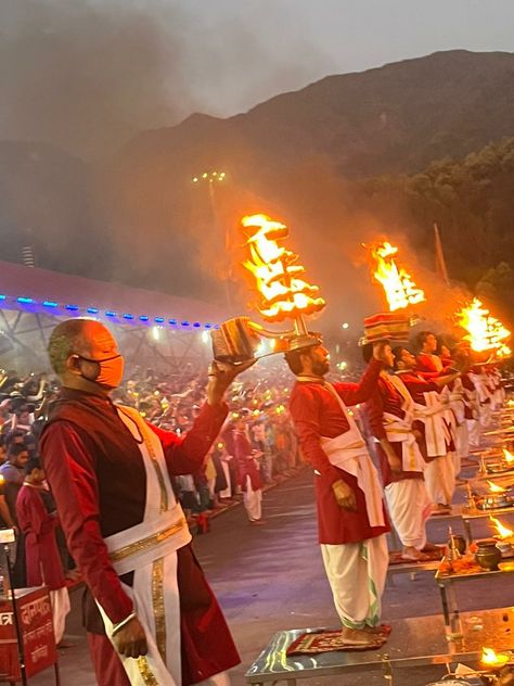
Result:
[[[364,494],[370,526],[384,526],[382,488],[364,440],[336,390],[330,383],[325,383],[325,388],[339,403],[340,409],[348,421],[349,430],[335,436],[335,439],[321,436],[321,447],[331,465],[356,477],[359,488]]]

